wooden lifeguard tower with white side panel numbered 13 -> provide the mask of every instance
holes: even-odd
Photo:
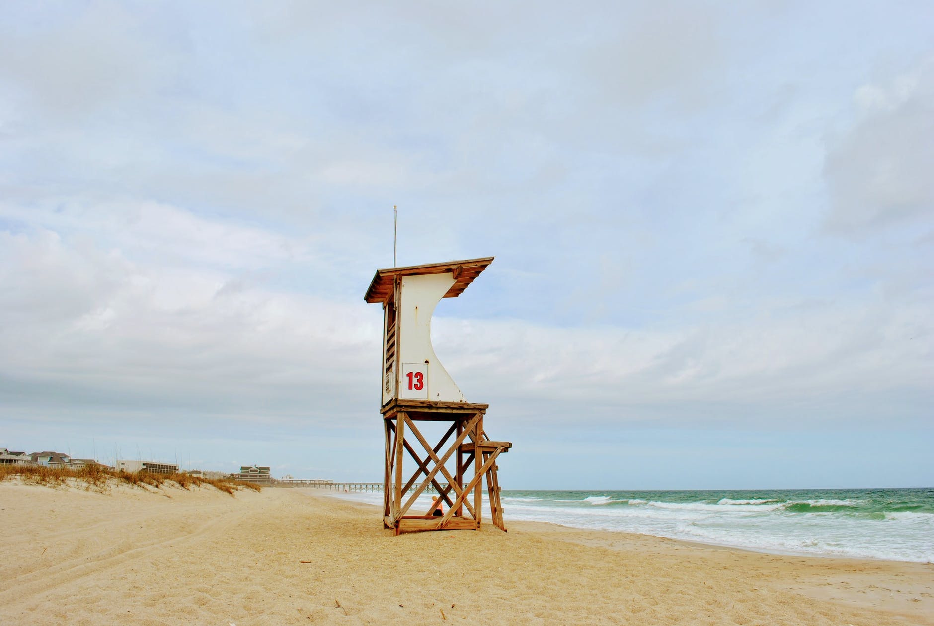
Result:
[[[396,534],[479,529],[484,477],[490,517],[494,525],[506,530],[496,460],[512,444],[490,441],[483,425],[488,405],[467,402],[432,349],[434,307],[442,298],[458,297],[492,262],[493,257],[485,257],[377,270],[364,296],[367,302],[383,306],[383,524]],[[446,426],[436,444],[418,428],[426,421]],[[407,479],[405,452],[416,466]],[[452,460],[453,468],[449,466]],[[426,490],[436,491],[438,502],[424,513],[410,515],[417,497]],[[440,506],[442,502],[446,506]],[[436,513],[438,508],[445,509],[443,515]]]

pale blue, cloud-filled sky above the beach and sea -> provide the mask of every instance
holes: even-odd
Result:
[[[0,6],[0,447],[380,481],[377,268],[504,489],[934,485],[929,2]]]

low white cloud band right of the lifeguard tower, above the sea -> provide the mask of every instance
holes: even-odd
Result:
[[[904,393],[913,404],[889,423],[921,423],[934,377],[926,310],[891,310],[881,298],[785,304],[668,329],[437,320],[435,346],[471,400],[486,402],[475,397],[483,392],[512,407],[550,403],[543,422],[569,412],[580,423],[646,420],[661,410],[656,425],[671,426],[703,421],[700,407],[717,405],[718,419],[761,427],[803,400],[827,404],[820,419],[830,423],[865,418],[862,393]]]

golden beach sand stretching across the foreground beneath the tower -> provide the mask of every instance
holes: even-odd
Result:
[[[934,566],[510,521],[393,536],[327,491],[0,484],[0,624],[934,624]]]

